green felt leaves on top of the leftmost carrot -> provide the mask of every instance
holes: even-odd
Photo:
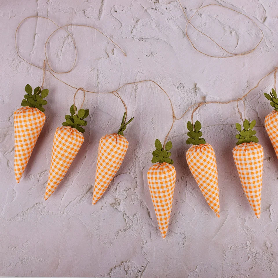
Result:
[[[24,99],[21,102],[21,106],[34,107],[44,112],[45,109],[43,108],[43,105],[47,105],[47,101],[43,98],[47,97],[48,89],[41,90],[40,87],[36,87],[34,89],[34,94],[32,94],[32,91],[32,87],[29,84],[27,84],[25,86],[25,92],[27,94],[24,95]]]

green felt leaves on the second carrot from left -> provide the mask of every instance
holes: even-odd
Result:
[[[74,109],[74,105],[69,108],[70,115],[66,115],[66,121],[63,122],[64,127],[73,127],[80,132],[85,132],[85,129],[82,126],[87,125],[87,121],[84,119],[89,116],[89,109],[79,109],[76,114],[76,107]]]

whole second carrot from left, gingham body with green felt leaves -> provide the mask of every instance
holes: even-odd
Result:
[[[76,114],[72,105],[69,111],[71,115],[65,116],[66,121],[63,122],[63,127],[58,127],[54,135],[51,164],[44,195],[45,200],[63,180],[84,142],[82,133],[85,132],[85,129],[81,126],[87,125],[84,119],[89,115],[89,109],[80,109]]]

